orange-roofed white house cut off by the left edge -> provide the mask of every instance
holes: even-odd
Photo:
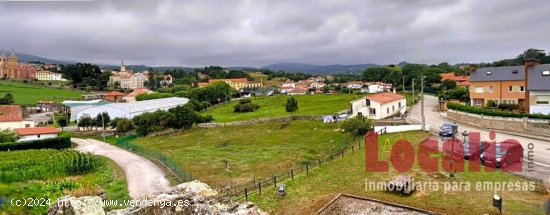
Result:
[[[0,130],[34,127],[34,122],[24,119],[23,108],[20,106],[0,105]]]

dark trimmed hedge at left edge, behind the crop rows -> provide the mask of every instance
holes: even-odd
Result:
[[[66,149],[71,147],[71,137],[67,135],[56,138],[24,142],[0,143],[0,151],[27,149]]]

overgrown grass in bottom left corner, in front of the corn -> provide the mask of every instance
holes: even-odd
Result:
[[[97,168],[87,173],[75,173],[45,180],[39,179],[43,177],[37,177],[13,183],[0,182],[0,203],[3,202],[3,205],[0,204],[0,214],[45,214],[48,210],[47,206],[12,206],[9,203],[11,199],[45,198],[53,204],[59,197],[65,195],[78,197],[99,195],[101,192],[104,192],[110,200],[122,202],[130,199],[122,170],[106,158],[95,159],[97,159]]]

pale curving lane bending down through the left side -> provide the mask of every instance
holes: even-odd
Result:
[[[113,160],[124,170],[130,197],[138,197],[166,191],[170,182],[164,171],[150,160],[134,153],[94,139],[71,138],[77,150],[90,152]]]

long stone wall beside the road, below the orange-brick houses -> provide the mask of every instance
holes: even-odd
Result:
[[[548,120],[483,116],[454,110],[447,111],[447,117],[487,129],[550,137],[550,122]]]

